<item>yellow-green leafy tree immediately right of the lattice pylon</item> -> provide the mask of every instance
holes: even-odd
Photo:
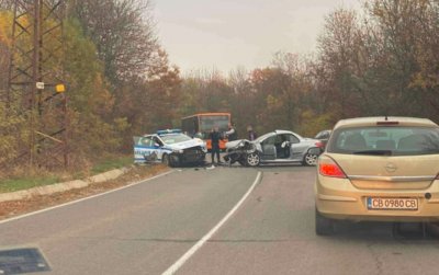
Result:
[[[111,116],[114,95],[109,90],[94,44],[79,22],[67,21],[66,81],[69,98],[69,147],[71,163],[82,164],[121,148],[126,123]]]

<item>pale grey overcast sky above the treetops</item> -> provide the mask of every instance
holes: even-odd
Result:
[[[324,18],[359,0],[155,0],[161,45],[182,72],[270,65],[278,50],[311,53]]]

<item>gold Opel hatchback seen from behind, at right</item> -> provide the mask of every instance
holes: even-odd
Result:
[[[336,124],[317,164],[316,233],[336,220],[439,221],[439,126],[425,118]]]

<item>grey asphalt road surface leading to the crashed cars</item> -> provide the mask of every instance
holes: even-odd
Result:
[[[249,192],[243,204],[200,244]],[[391,224],[314,233],[314,168],[183,169],[0,222],[0,249],[38,247],[42,274],[438,274],[439,242]],[[211,231],[212,232],[212,231]],[[191,248],[198,245],[181,262]]]

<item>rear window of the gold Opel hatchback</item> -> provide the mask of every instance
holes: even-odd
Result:
[[[328,152],[370,156],[414,156],[439,153],[439,128],[358,127],[333,134]]]

